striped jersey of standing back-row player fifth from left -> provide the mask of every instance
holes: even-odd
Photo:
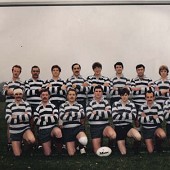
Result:
[[[110,84],[110,80],[108,77],[100,76],[99,78],[96,78],[95,75],[92,75],[87,77],[87,82],[89,84],[89,92],[88,92],[89,101],[93,99],[93,90],[94,90],[93,84],[98,84],[102,86],[103,96],[106,99],[107,94],[109,94],[110,92],[110,86],[104,86],[104,83]]]

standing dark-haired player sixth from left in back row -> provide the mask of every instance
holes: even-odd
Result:
[[[114,65],[114,69],[116,71],[115,77],[111,80],[110,87],[110,105],[114,104],[114,102],[120,100],[119,90],[122,88],[129,89],[130,80],[123,75],[123,63],[117,62]]]

